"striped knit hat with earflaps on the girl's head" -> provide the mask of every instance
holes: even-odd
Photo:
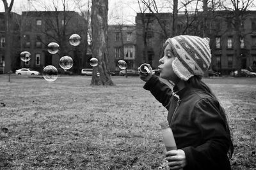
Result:
[[[207,71],[211,64],[209,41],[198,36],[175,36],[166,40],[176,57],[172,62],[173,71],[181,80],[202,76]]]

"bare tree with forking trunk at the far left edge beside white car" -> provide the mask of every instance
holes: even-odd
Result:
[[[8,6],[7,0],[3,0],[4,4],[4,24],[5,24],[5,48],[4,48],[4,60],[5,71],[11,71],[12,69],[12,38],[11,38],[11,11],[14,0],[11,1]]]

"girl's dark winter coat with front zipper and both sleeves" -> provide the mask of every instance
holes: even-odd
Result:
[[[186,154],[184,170],[230,169],[227,152],[231,143],[221,106],[214,97],[193,87],[175,94],[154,75],[144,89],[168,110],[177,148]]]

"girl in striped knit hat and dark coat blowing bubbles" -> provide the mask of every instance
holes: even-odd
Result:
[[[178,150],[166,152],[170,169],[230,169],[234,150],[225,111],[202,76],[211,64],[209,38],[175,36],[164,45],[160,77],[173,81],[173,90],[150,73],[140,73],[149,90],[168,110]]]

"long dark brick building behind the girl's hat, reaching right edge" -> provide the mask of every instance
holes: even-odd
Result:
[[[202,12],[186,27],[186,15],[178,15],[177,35],[189,34],[211,38],[211,67],[215,71],[229,74],[237,67],[236,50],[234,48],[235,34],[234,26],[230,22],[232,11],[216,11],[214,16],[207,13],[207,21],[204,30],[204,16]],[[188,15],[188,17],[194,15]],[[214,18],[212,20],[212,18]],[[228,19],[229,18],[229,19]],[[144,21],[143,21],[144,20]],[[161,25],[159,24],[161,22]],[[233,22],[234,23],[234,22]],[[163,27],[164,26],[164,27]],[[162,46],[167,38],[172,35],[172,13],[137,13],[136,16],[136,67],[142,62],[151,64],[156,68],[161,55]],[[256,60],[256,11],[245,11],[241,18],[241,68],[246,69]],[[145,47],[145,43],[147,46]],[[145,52],[147,51],[147,52]]]

